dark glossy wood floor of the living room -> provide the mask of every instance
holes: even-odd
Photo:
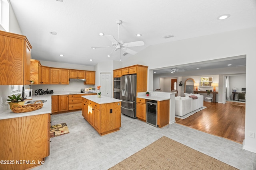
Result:
[[[245,106],[204,102],[206,109],[176,123],[242,143],[245,128]]]

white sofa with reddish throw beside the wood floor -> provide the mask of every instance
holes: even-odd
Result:
[[[189,96],[197,96],[197,99],[192,99]],[[175,115],[178,116],[184,116],[203,106],[204,96],[201,96],[200,94],[188,94],[188,96],[185,97],[175,97]]]

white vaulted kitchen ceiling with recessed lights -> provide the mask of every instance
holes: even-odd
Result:
[[[94,66],[108,60],[126,61],[131,54],[114,51],[116,20],[119,40],[144,41],[129,47],[140,52],[150,45],[256,26],[255,0],[10,0],[20,29],[32,44],[32,58]],[[218,20],[230,14],[226,20]],[[50,32],[56,32],[52,35]],[[136,34],[142,34],[138,37]],[[174,37],[163,38],[166,35]],[[64,55],[60,57],[60,54]],[[89,61],[92,59],[93,61]]]

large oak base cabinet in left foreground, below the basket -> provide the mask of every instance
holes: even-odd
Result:
[[[15,161],[14,164],[0,164],[0,169],[30,169],[44,161],[50,151],[49,123],[50,113],[0,120],[0,160]],[[18,164],[16,160],[31,162]]]

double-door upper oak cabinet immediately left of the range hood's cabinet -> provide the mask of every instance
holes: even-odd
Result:
[[[69,70],[50,68],[50,84],[69,84]]]

